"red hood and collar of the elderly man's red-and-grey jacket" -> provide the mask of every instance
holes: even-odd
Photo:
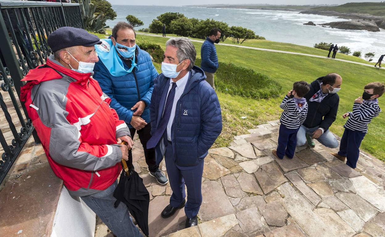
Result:
[[[43,81],[50,81],[60,79],[63,76],[60,73],[67,75],[75,80],[75,83],[82,85],[82,82],[88,81],[92,73],[79,73],[74,70],[65,68],[59,61],[54,59],[54,55],[50,55],[47,58],[47,63],[41,65],[35,69],[29,70],[27,75],[22,81],[27,81],[27,84],[22,86],[20,91],[20,100],[25,101],[27,99],[28,91],[33,86],[42,83]],[[86,85],[87,83],[84,83]]]

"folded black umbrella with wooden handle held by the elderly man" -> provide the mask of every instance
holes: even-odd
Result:
[[[122,144],[127,144],[122,142]],[[143,184],[143,179],[134,171],[132,166],[132,158],[128,161],[129,166],[122,159],[122,174],[119,179],[119,184],[114,191],[114,197],[117,199],[115,208],[120,202],[123,202],[128,207],[129,212],[136,220],[142,232],[148,236],[148,206],[150,203],[150,194]]]

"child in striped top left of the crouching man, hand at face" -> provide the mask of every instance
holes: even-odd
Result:
[[[273,150],[273,154],[278,159],[283,159],[285,155],[289,159],[293,159],[297,144],[297,132],[308,114],[308,103],[303,96],[309,90],[310,87],[306,81],[296,81],[293,84],[293,89],[283,98],[280,105],[283,112],[280,118],[278,148]]]

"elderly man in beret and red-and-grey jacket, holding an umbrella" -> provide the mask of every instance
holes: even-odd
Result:
[[[80,196],[117,236],[142,236],[125,205],[114,208],[121,159],[132,147],[130,131],[92,79],[97,36],[62,27],[50,34],[54,55],[30,70],[21,99],[52,170],[69,193]],[[128,146],[121,145],[126,141]]]

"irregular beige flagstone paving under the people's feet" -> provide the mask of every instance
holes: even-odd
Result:
[[[319,143],[298,147],[294,159],[276,159],[271,150],[279,126],[279,121],[259,125],[228,148],[209,150],[199,225],[188,229],[183,209],[161,217],[172,191],[148,175],[137,139],[132,152],[151,197],[150,236],[384,237],[385,163],[361,152],[353,170],[329,154],[336,149]],[[167,173],[164,163],[161,169]],[[106,230],[99,224],[95,236],[106,236]]]

